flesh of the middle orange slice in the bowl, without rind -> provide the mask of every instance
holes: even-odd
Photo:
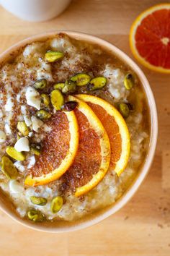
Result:
[[[89,182],[97,174],[102,161],[99,136],[91,129],[86,116],[74,110],[79,124],[79,149],[71,168],[61,177],[61,190],[76,189]]]

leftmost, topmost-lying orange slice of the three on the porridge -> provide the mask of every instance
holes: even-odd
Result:
[[[53,182],[73,163],[79,146],[79,128],[73,111],[58,111],[47,123],[51,127],[42,142],[42,152],[24,181],[28,186]]]

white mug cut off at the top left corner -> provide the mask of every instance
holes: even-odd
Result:
[[[63,12],[71,0],[0,0],[17,17],[32,22],[50,20]]]

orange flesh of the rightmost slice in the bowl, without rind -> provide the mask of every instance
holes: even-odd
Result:
[[[122,152],[122,139],[117,122],[115,121],[114,117],[107,114],[107,111],[105,111],[101,106],[91,102],[86,103],[91,107],[92,111],[94,111],[94,114],[97,115],[107,132],[111,147],[111,159],[109,166],[111,168],[115,168],[115,163],[120,159]]]

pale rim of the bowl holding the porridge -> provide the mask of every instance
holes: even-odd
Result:
[[[86,33],[81,32],[73,32],[69,30],[54,30],[50,31],[48,33],[41,33],[37,35],[32,35],[29,38],[26,38],[24,40],[19,41],[18,43],[14,44],[10,48],[8,48],[6,51],[4,51],[0,55],[0,61],[5,59],[7,56],[9,56],[9,53],[12,51],[16,51],[17,48],[21,46],[26,46],[29,43],[42,40],[43,38],[52,37],[53,35],[57,35],[58,33],[65,33],[68,36],[71,36],[71,38],[79,39],[79,40],[85,40],[89,41],[91,43],[96,43],[99,46],[104,46],[104,48],[109,49],[109,51],[112,51],[113,54],[115,54],[118,58],[122,59],[126,64],[128,64],[138,75],[141,83],[143,84],[143,88],[146,93],[146,97],[148,98],[148,107],[150,108],[150,116],[151,116],[151,138],[150,138],[150,145],[148,149],[148,154],[146,156],[146,161],[143,164],[143,167],[140,169],[140,174],[138,174],[138,178],[135,179],[135,182],[128,188],[127,192],[125,192],[124,195],[120,198],[120,200],[117,200],[115,204],[112,205],[112,207],[109,208],[109,210],[106,210],[104,213],[99,214],[99,216],[96,216],[94,218],[91,218],[90,220],[82,221],[80,223],[76,223],[73,226],[63,226],[63,227],[54,227],[54,228],[47,228],[45,226],[36,226],[34,223],[26,223],[22,218],[16,218],[14,214],[7,209],[4,209],[0,205],[0,209],[4,211],[9,217],[14,219],[14,221],[17,221],[18,223],[21,223],[23,226],[26,226],[30,229],[34,229],[36,231],[44,231],[49,233],[63,233],[68,231],[77,231],[79,229],[84,229],[89,226],[92,226],[94,224],[99,223],[100,221],[103,221],[105,218],[111,216],[112,214],[116,213],[120,208],[122,208],[132,197],[135,195],[135,192],[140,187],[140,184],[143,182],[143,180],[146,178],[146,175],[148,174],[148,171],[151,167],[151,163],[153,161],[153,157],[156,150],[156,143],[157,143],[157,137],[158,137],[158,116],[156,111],[156,102],[153,97],[153,93],[151,90],[151,87],[148,83],[148,80],[143,73],[143,71],[138,67],[135,62],[130,59],[130,57],[125,54],[123,51],[121,51],[119,48],[114,46],[112,43],[107,42],[106,40],[103,40],[101,38],[98,38],[94,35],[89,35]]]

